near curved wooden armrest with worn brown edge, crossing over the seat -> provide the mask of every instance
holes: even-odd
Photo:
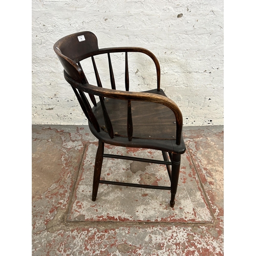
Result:
[[[180,145],[181,142],[181,133],[182,133],[182,124],[183,118],[181,111],[177,104],[159,94],[153,93],[144,93],[144,92],[127,92],[127,91],[119,91],[119,90],[111,90],[102,87],[92,86],[92,84],[86,83],[81,84],[73,80],[67,73],[64,71],[65,79],[76,89],[81,90],[83,92],[94,94],[101,97],[113,98],[113,99],[122,99],[122,100],[137,100],[137,101],[148,101],[155,102],[162,105],[167,106],[170,110],[172,110],[175,114],[176,118],[176,144]]]

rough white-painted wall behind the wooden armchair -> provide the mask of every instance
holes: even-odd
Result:
[[[161,88],[180,107],[184,125],[223,124],[223,0],[32,0],[33,124],[87,124],[53,51],[59,38],[86,30],[96,34],[99,48],[152,51]],[[153,61],[129,57],[131,90],[156,88]],[[97,65],[108,74],[105,61],[98,58]],[[82,64],[93,83],[90,65]],[[123,55],[113,56],[113,68],[123,89]],[[108,87],[109,78],[101,78]]]

